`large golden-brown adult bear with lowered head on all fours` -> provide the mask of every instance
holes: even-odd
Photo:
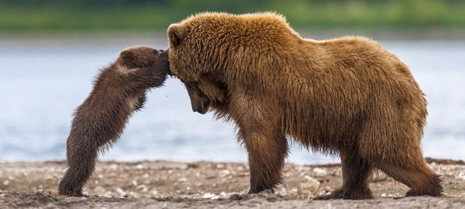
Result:
[[[288,140],[339,154],[343,184],[317,199],[370,199],[374,169],[439,196],[422,157],[427,102],[409,68],[368,38],[301,38],[275,13],[201,13],[168,29],[171,74],[192,109],[232,120],[250,164],[250,193],[282,182]]]

